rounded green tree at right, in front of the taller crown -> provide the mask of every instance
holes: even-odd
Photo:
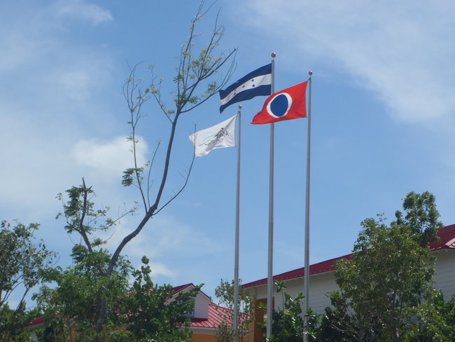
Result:
[[[352,259],[337,262],[335,272],[343,305],[353,312],[351,332],[358,341],[400,341],[409,309],[431,289],[434,258],[405,226],[388,227],[382,217],[362,226]]]

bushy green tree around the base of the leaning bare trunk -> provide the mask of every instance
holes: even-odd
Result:
[[[73,266],[56,272],[54,288],[41,287],[34,299],[45,313],[45,325],[52,328],[54,338],[67,341],[68,336],[78,338],[94,336],[95,322],[101,299],[106,300],[106,324],[118,327],[122,321],[120,299],[129,289],[128,277],[132,270],[130,261],[120,257],[111,275],[102,276],[99,268],[105,268],[111,259],[106,249],[88,252],[83,245],[73,246]],[[107,334],[107,333],[106,333]]]

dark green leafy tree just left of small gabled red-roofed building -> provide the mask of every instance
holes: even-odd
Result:
[[[202,285],[175,296],[171,285],[153,283],[146,257],[142,263],[141,269],[133,272],[132,289],[123,296],[125,327],[138,341],[188,340],[192,335],[188,313],[193,312]]]

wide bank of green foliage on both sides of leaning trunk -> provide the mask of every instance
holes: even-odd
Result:
[[[129,261],[122,258],[111,275],[102,276],[98,266],[106,266],[109,253],[100,249],[97,254],[81,257],[84,249],[75,246],[76,250],[75,266],[56,274],[57,287],[42,287],[34,296],[38,308],[45,312],[45,326],[57,341],[69,341],[68,336],[74,333],[78,341],[181,342],[190,338],[187,314],[193,312],[201,286],[175,296],[172,286],[152,282],[146,257],[140,270],[132,271]],[[130,275],[134,277],[132,287],[127,281]],[[97,334],[102,299],[107,305],[106,322]]]

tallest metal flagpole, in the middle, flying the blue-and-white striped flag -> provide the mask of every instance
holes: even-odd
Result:
[[[276,53],[272,53],[272,87],[275,92],[275,60]],[[269,260],[267,267],[267,338],[272,334],[272,305],[273,305],[273,213],[274,213],[274,133],[275,124],[270,124],[270,165],[269,165]]]

